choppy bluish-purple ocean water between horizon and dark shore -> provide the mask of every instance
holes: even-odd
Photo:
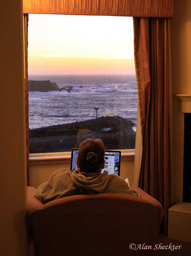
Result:
[[[50,80],[59,88],[73,86],[70,92],[29,92],[30,129],[95,118],[96,106],[98,117],[116,113],[136,123],[135,75],[38,75],[29,80]]]

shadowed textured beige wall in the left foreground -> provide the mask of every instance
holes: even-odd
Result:
[[[22,0],[0,8],[0,255],[27,255]]]

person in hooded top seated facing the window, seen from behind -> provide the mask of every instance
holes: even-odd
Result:
[[[77,168],[55,171],[47,182],[35,191],[43,204],[65,196],[90,193],[122,193],[138,196],[135,189],[129,188],[126,181],[115,174],[101,173],[105,165],[105,146],[100,139],[84,140],[78,150]]]

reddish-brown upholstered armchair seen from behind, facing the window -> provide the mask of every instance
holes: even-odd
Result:
[[[130,244],[154,246],[161,204],[140,188],[141,198],[103,193],[68,196],[42,204],[27,187],[28,227],[36,256],[152,255]]]

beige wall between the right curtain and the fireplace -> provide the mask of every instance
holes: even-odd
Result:
[[[173,202],[182,201],[184,114],[176,94],[191,94],[191,1],[175,0],[171,26],[173,96]]]

